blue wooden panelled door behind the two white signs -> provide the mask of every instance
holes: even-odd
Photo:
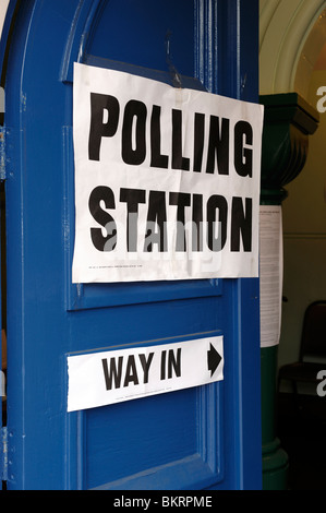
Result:
[[[259,488],[257,279],[71,281],[73,63],[171,81],[177,70],[194,87],[256,102],[258,2],[13,4],[3,67],[8,488]],[[67,411],[69,356],[207,334],[224,336],[222,381]]]

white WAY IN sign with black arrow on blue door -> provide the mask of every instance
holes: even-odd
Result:
[[[68,357],[68,411],[205,385],[224,379],[224,337]]]

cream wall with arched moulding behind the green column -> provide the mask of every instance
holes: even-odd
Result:
[[[316,107],[326,86],[315,69],[326,41],[326,1],[261,0],[261,94],[297,92]],[[317,64],[318,65],[318,64]],[[323,67],[322,67],[323,68]],[[310,138],[307,162],[282,204],[285,272],[279,366],[299,357],[306,306],[326,299],[326,112]]]

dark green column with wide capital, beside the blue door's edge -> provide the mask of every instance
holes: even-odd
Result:
[[[281,205],[283,187],[304,167],[309,135],[318,114],[297,93],[261,96],[265,106],[262,150],[262,205]],[[286,490],[291,462],[276,437],[278,345],[261,349],[263,489]]]

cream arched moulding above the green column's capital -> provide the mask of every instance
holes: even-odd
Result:
[[[261,94],[295,91],[306,99],[326,38],[325,9],[325,0],[261,0]]]

